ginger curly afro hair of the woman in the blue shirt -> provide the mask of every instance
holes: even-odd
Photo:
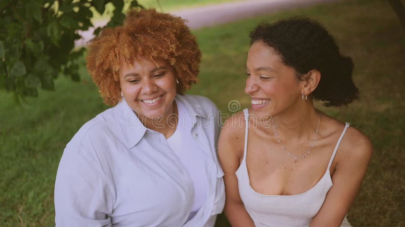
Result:
[[[167,60],[176,72],[177,92],[197,82],[201,51],[185,20],[154,9],[131,10],[123,26],[105,28],[88,43],[87,70],[107,105],[121,99],[121,61],[132,63],[141,56],[155,62]]]

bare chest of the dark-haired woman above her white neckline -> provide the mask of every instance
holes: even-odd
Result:
[[[296,195],[308,191],[325,176],[333,153],[333,146],[328,141],[319,140],[304,159],[295,159],[294,154],[305,154],[310,145],[283,149],[275,138],[262,137],[250,132],[246,156],[250,185],[256,192]]]

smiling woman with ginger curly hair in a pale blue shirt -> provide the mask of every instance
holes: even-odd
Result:
[[[185,21],[155,10],[90,41],[87,68],[114,107],[63,152],[56,226],[214,226],[225,202],[218,109],[183,94],[200,58]]]

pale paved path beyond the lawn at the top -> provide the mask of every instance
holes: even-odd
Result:
[[[336,0],[245,0],[216,4],[206,7],[191,8],[181,11],[169,12],[188,20],[191,29],[224,24],[231,21],[270,14],[281,10],[305,7],[317,3],[334,2]],[[95,23],[96,27],[104,26],[107,21]],[[94,29],[80,32],[82,39],[75,42],[76,46],[85,45],[93,37]]]

